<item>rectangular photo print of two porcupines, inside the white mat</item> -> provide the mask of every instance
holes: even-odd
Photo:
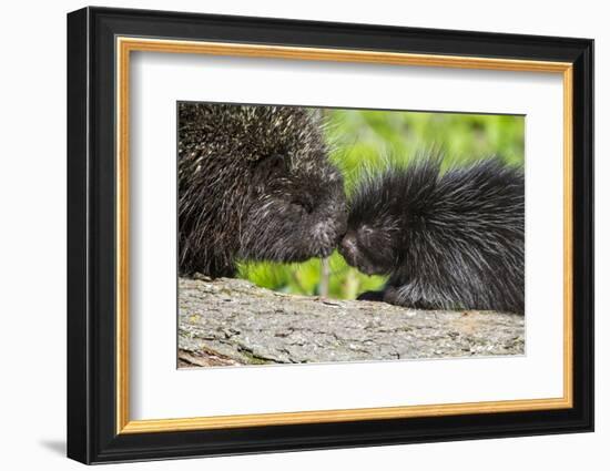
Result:
[[[177,103],[179,368],[525,354],[525,116]]]

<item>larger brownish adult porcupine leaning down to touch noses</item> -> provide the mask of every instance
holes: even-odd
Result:
[[[180,103],[177,173],[182,275],[324,257],[345,232],[343,178],[313,110]]]

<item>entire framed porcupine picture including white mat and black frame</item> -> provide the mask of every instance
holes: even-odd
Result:
[[[593,429],[593,41],[68,14],[68,455]]]

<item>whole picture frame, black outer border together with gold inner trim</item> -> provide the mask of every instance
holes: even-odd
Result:
[[[557,296],[565,301],[563,396],[131,420],[129,61],[133,51],[561,74],[565,286]],[[70,13],[68,455],[99,463],[591,431],[592,78],[593,42],[586,39],[104,8]]]

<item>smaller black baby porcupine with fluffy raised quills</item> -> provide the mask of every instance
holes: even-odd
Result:
[[[389,279],[362,299],[424,309],[523,313],[523,173],[498,158],[440,173],[440,160],[390,165],[349,202],[339,252]]]

